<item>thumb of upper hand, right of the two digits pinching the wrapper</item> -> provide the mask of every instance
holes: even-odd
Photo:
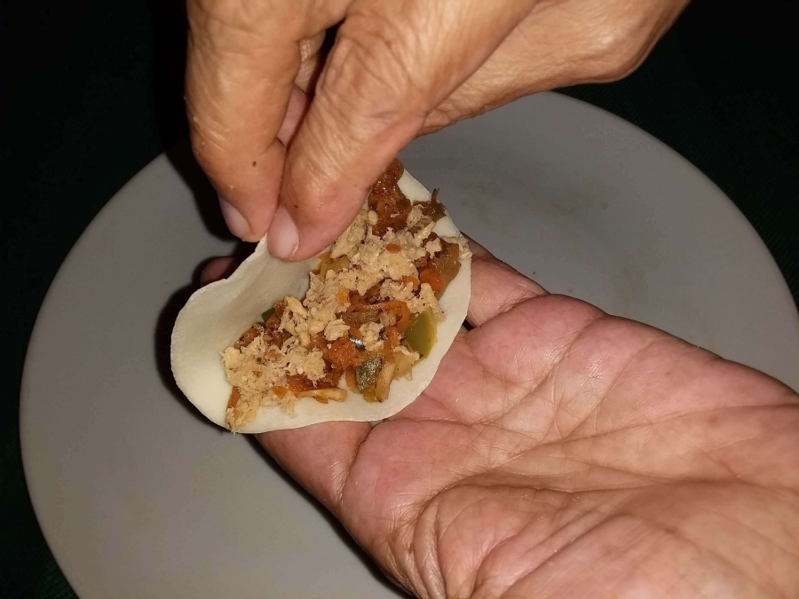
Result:
[[[523,19],[535,0],[352,4],[287,156],[269,250],[318,253],[369,186]]]

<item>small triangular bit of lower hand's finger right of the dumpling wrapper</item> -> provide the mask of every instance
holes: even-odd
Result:
[[[475,241],[471,248],[471,300],[466,319],[473,327],[509,311],[518,303],[547,295],[538,283],[497,260]]]

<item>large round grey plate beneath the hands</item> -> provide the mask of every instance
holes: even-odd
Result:
[[[442,188],[463,231],[550,291],[799,387],[799,318],[763,243],[708,179],[628,123],[542,94],[402,157]],[[394,596],[247,437],[203,422],[171,383],[169,333],[192,273],[233,249],[209,192],[185,148],[161,156],[52,284],[21,399],[44,535],[87,599]]]

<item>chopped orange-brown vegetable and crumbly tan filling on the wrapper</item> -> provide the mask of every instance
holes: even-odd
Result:
[[[225,424],[237,430],[260,406],[292,414],[300,398],[327,404],[382,402],[392,381],[412,375],[445,319],[439,298],[468,248],[433,233],[446,215],[437,201],[411,202],[395,160],[372,186],[367,206],[310,273],[305,297],[287,296],[222,352],[233,392]]]

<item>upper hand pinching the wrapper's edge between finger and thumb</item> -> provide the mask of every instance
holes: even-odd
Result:
[[[305,259],[415,136],[628,74],[688,0],[188,0],[194,154],[244,240]],[[332,51],[326,29],[342,22]]]

